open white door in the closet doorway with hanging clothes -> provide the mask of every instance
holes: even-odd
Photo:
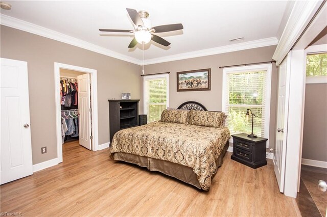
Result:
[[[80,145],[91,150],[91,94],[90,74],[85,73],[77,76],[78,80],[78,110],[79,117],[79,139]]]

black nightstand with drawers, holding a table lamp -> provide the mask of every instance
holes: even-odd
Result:
[[[236,160],[253,169],[267,165],[266,142],[268,139],[247,137],[246,133],[231,135],[233,138],[233,154]]]

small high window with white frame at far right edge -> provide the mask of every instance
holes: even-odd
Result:
[[[306,83],[327,83],[327,45],[314,45],[306,49]]]

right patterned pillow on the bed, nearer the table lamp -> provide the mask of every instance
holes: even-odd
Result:
[[[189,124],[209,127],[223,127],[224,125],[223,112],[208,112],[208,111],[195,111],[189,112]]]

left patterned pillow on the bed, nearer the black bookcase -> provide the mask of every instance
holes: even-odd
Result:
[[[189,110],[167,110],[161,113],[161,122],[174,122],[180,124],[189,123]]]

